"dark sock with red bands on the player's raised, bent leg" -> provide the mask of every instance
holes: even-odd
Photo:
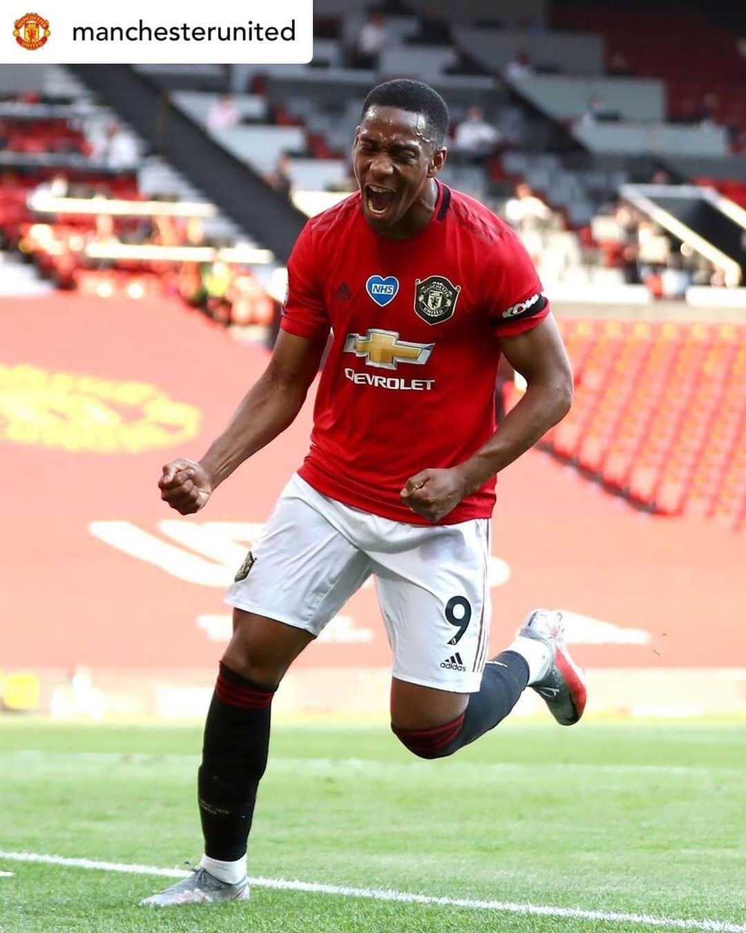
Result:
[[[469,705],[453,722],[435,729],[391,729],[402,745],[420,758],[445,758],[494,729],[513,709],[527,684],[528,663],[515,651],[503,651],[487,661],[479,692],[471,694]]]

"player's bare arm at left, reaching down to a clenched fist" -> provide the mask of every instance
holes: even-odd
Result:
[[[267,369],[199,463],[179,458],[163,466],[158,481],[161,498],[182,515],[203,508],[213,490],[236,466],[295,420],[325,345],[325,338],[311,340],[280,330]]]

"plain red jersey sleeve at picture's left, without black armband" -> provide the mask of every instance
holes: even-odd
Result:
[[[330,322],[318,277],[311,225],[307,223],[288,260],[288,295],[282,306],[280,327],[309,340],[326,338]]]

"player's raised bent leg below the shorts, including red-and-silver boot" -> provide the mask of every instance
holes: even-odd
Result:
[[[392,731],[420,758],[445,758],[494,729],[528,686],[542,696],[557,722],[572,725],[583,715],[585,682],[563,635],[561,613],[535,609],[513,644],[486,662],[476,693],[453,693],[394,678]]]

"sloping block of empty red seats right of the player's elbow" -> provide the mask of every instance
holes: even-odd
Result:
[[[542,440],[605,488],[664,515],[746,522],[746,327],[562,321],[575,372]]]

